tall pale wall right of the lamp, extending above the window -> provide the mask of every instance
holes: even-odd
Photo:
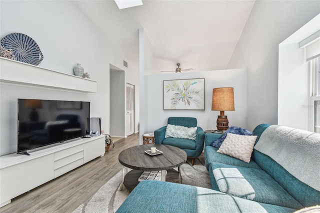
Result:
[[[318,0],[255,1],[228,65],[248,70],[249,129],[277,123],[278,44],[319,12]]]

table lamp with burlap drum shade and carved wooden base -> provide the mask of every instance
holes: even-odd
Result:
[[[228,129],[228,118],[224,115],[224,111],[234,111],[234,98],[232,87],[222,87],[212,89],[212,105],[211,110],[220,111],[220,115],[216,119],[217,130]]]

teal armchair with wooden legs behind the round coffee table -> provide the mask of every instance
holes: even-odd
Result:
[[[155,144],[172,145],[183,149],[186,152],[188,158],[191,158],[191,164],[193,165],[194,159],[198,157],[203,150],[203,129],[199,126],[196,126],[197,122],[195,117],[169,117],[167,123],[185,127],[197,127],[195,140],[174,137],[165,138],[166,126],[162,126],[161,128],[158,128],[154,131]]]

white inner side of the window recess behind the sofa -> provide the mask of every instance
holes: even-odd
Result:
[[[278,124],[313,131],[309,126],[309,71],[298,43],[320,30],[320,14],[279,44]]]

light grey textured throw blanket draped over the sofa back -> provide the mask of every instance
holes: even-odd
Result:
[[[271,125],[262,132],[254,148],[320,191],[320,134]]]

